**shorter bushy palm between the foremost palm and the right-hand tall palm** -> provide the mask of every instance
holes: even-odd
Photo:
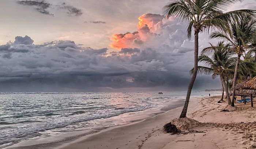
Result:
[[[198,61],[206,65],[198,67],[198,73],[204,73],[207,75],[212,74],[212,78],[220,77],[228,103],[231,104],[229,89],[225,81],[227,72],[233,71],[235,60],[233,59],[233,53],[230,52],[229,44],[225,44],[220,41],[216,46],[210,43],[210,47],[204,48],[199,56]],[[205,55],[211,55],[211,57]],[[190,73],[194,72],[194,68],[191,69]]]

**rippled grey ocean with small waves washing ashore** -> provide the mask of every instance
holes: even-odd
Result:
[[[192,97],[209,93],[221,94],[200,91]],[[0,148],[58,141],[139,121],[183,106],[185,96],[186,92],[1,92]]]

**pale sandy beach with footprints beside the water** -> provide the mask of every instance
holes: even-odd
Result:
[[[170,135],[162,127],[178,118],[182,107],[129,125],[116,126],[63,144],[58,149],[230,149],[256,148],[255,108],[236,104],[235,112],[220,112],[227,102],[220,96],[191,98],[188,118],[202,122],[204,133]]]

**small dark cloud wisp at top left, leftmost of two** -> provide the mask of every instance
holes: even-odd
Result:
[[[38,11],[42,14],[45,15],[53,15],[50,14],[50,12],[47,10],[51,4],[46,3],[45,1],[33,1],[33,0],[23,0],[23,1],[17,1],[18,4],[20,5],[25,5],[25,6],[33,6],[35,7],[35,11]]]

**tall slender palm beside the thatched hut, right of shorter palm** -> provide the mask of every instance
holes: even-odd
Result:
[[[244,54],[246,50],[251,49],[249,44],[253,42],[252,37],[256,31],[256,20],[252,19],[250,16],[245,16],[244,19],[232,21],[230,24],[230,28],[231,28],[230,33],[227,33],[224,30],[219,30],[217,32],[213,32],[210,37],[226,40],[231,45],[231,48],[237,54],[237,63],[236,63],[236,68],[235,68],[234,78],[233,78],[233,88],[235,88],[237,83],[237,73],[238,73],[238,66],[240,63],[240,57],[241,55]],[[231,106],[234,106],[235,94],[236,94],[236,91],[233,90]]]

